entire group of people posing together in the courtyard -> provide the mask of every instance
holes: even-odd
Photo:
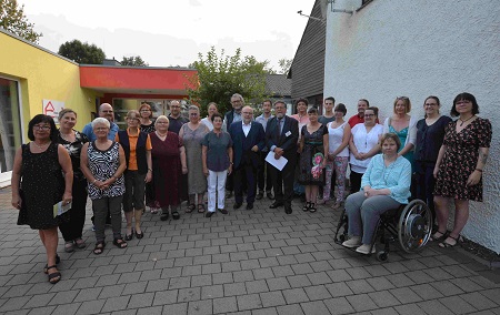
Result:
[[[349,121],[344,120],[346,105],[334,105],[333,98],[324,100],[323,115],[300,99],[298,114],[292,116],[287,115],[284,102],[267,100],[256,119],[240,94],[230,101],[232,110],[224,115],[210,103],[204,119],[196,105],[189,106],[189,119],[183,118],[180,102],[171,101],[170,114],[152,120],[150,105],[142,103],[139,111],[127,113],[127,130],[119,130],[108,103],[100,105],[99,118],[82,132],[74,130],[77,113],[70,109],[59,113],[59,130],[48,115],[36,115],[29,122],[31,142],[16,153],[12,205],[19,210],[18,224],[39,231],[47,252],[43,272],[50,283],[61,278],[58,227],[64,251],[87,246],[82,228],[88,196],[97,255],[106,247],[107,223],[112,227],[112,244],[126,248],[133,237],[144,237],[141,216],[146,206],[152,212],[161,210],[162,221],[170,215],[178,220],[184,200],[188,213],[197,210],[206,217],[216,211],[228,214],[226,189],[228,197],[234,192],[234,210],[242,206],[244,194],[247,210],[266,195],[273,201],[270,209],[284,206],[290,214],[294,190],[302,186],[302,210],[316,212],[317,203],[330,201],[333,177],[332,207],[344,203],[349,217],[351,237],[343,245],[364,254],[370,252],[380,214],[408,203],[412,179],[413,197],[436,211],[438,227],[432,240],[442,247],[459,242],[469,201],[482,201],[491,124],[477,115],[479,105],[470,93],[453,100],[451,116],[458,116],[456,121],[441,115],[437,96],[426,99],[426,116],[416,120],[409,115],[410,100],[401,96],[383,124],[379,124],[378,109],[364,99],[359,100],[358,113]],[[269,159],[286,160],[284,166],[278,170],[266,162],[272,162]],[[351,195],[344,202],[348,165]],[[450,199],[457,209],[452,231],[447,230]],[[58,214],[58,206],[70,210]]]

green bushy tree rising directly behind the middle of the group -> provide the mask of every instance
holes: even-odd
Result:
[[[207,113],[207,104],[216,102],[220,113],[231,109],[230,98],[234,93],[243,95],[246,103],[260,102],[266,96],[266,75],[269,73],[268,61],[257,61],[253,55],[241,55],[237,49],[234,55],[226,55],[224,50],[217,54],[216,48],[189,65],[198,70],[198,77],[189,78],[194,88],[187,88],[189,99],[201,105]]]

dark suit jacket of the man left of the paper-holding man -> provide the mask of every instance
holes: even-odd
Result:
[[[233,152],[233,163],[234,169],[238,169],[240,165],[242,159],[243,159],[243,140],[244,140],[244,132],[243,132],[243,125],[241,121],[237,121],[232,123],[229,126],[229,134],[232,139],[232,152]],[[259,151],[264,149],[266,146],[266,133],[263,131],[262,124],[252,121],[250,131],[247,135],[247,141],[250,140],[251,146],[257,145],[259,146]],[[257,169],[257,165],[259,163],[259,152],[247,152],[251,159],[251,162],[253,163],[253,166]]]

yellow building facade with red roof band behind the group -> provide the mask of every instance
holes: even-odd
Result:
[[[81,130],[99,104],[113,104],[116,121],[147,101],[154,115],[168,114],[171,100],[187,98],[192,69],[80,65],[0,28],[0,186],[10,184],[16,150],[28,140],[37,114],[57,116],[62,108],[78,113]]]

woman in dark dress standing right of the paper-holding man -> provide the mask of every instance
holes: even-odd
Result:
[[[306,204],[302,211],[316,212],[316,200],[319,186],[324,185],[324,172],[327,165],[324,153],[328,149],[328,129],[318,121],[318,110],[308,110],[309,122],[302,126],[300,138],[300,174],[299,183],[306,185]]]

